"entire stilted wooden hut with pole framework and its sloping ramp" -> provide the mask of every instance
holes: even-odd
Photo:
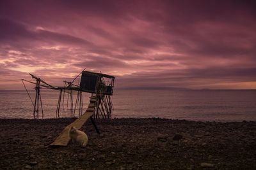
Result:
[[[113,103],[111,101],[111,96],[113,95],[113,88],[115,83],[114,76],[110,76],[108,74],[102,74],[102,73],[93,73],[90,71],[82,71],[78,75],[78,76],[81,75],[81,81],[79,85],[74,85],[74,80],[76,80],[76,78],[78,77],[76,76],[76,78],[72,82],[64,81],[65,82],[64,87],[53,87],[52,85],[49,85],[44,80],[34,76],[33,74],[30,74],[30,75],[32,76],[32,78],[35,78],[36,82],[23,80],[23,79],[22,79],[22,82],[27,81],[29,83],[33,83],[36,85],[35,103],[33,103],[33,101],[31,100],[34,106],[34,111],[33,111],[34,118],[39,118],[39,101],[42,109],[42,118],[44,117],[42,100],[40,95],[40,86],[46,89],[60,91],[58,104],[56,108],[56,118],[60,117],[61,99],[63,99],[62,107],[64,108],[65,93],[68,94],[68,98],[70,97],[70,106],[73,109],[73,91],[77,91],[73,116],[76,117],[76,110],[78,110],[78,113],[79,113],[78,118],[72,124],[67,125],[67,127],[65,127],[65,129],[61,132],[60,136],[51,144],[51,146],[67,146],[68,141],[70,140],[69,138],[70,128],[74,126],[77,129],[80,129],[83,126],[83,124],[86,122],[86,120],[88,120],[88,118],[90,118],[98,134],[100,132],[99,132],[99,129],[97,128],[97,125],[94,122],[94,119],[95,118],[96,119],[111,118],[113,113]],[[25,85],[24,87],[26,89]],[[88,108],[84,113],[83,113],[83,92],[87,92],[91,94],[90,104],[88,105]],[[67,98],[67,106],[68,106],[68,98]]]

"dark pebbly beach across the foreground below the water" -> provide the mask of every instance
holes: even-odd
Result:
[[[74,120],[0,119],[0,169],[256,169],[256,122],[88,120],[85,148],[51,148]]]

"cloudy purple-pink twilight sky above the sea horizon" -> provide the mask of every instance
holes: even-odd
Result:
[[[84,68],[119,89],[256,89],[255,1],[0,1],[0,89]]]

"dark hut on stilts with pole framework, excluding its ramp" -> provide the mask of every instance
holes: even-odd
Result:
[[[91,94],[90,107],[91,108],[93,107],[93,114],[92,114],[93,118],[111,118],[111,115],[113,113],[113,103],[111,101],[111,96],[113,95],[113,89],[114,89],[114,83],[115,83],[114,76],[83,70],[78,76],[76,76],[76,78],[74,78],[73,81],[63,81],[64,82],[63,87],[54,87],[49,83],[46,83],[41,78],[38,78],[33,74],[30,74],[30,75],[33,79],[35,79],[35,82],[22,79],[22,83],[24,84],[24,81],[26,81],[28,83],[33,83],[36,85],[35,87],[36,96],[35,96],[35,102],[33,103],[33,100],[31,99],[31,96],[29,95],[29,92],[26,89],[26,85],[24,84],[24,87],[28,92],[28,96],[31,99],[31,102],[34,107],[34,110],[33,110],[34,118],[39,118],[39,110],[42,111],[42,118],[44,118],[44,111],[43,111],[41,92],[40,92],[40,89],[42,88],[60,91],[56,113],[55,113],[56,118],[60,117],[61,100],[62,100],[62,107],[64,108],[65,94],[67,95],[67,107],[69,104],[70,107],[74,110],[73,116],[76,117],[77,110],[79,114],[78,117],[83,115],[83,92]],[[81,75],[81,80],[79,82],[79,85],[76,85],[74,81],[80,75]],[[74,91],[77,92],[75,104],[73,100],[74,99],[73,97],[75,94]]]

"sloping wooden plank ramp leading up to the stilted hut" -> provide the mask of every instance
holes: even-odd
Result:
[[[70,128],[73,126],[73,127],[76,127],[76,129],[80,129],[83,126],[83,124],[86,122],[86,120],[92,117],[94,109],[95,109],[95,100],[91,99],[90,104],[87,110],[85,111],[85,113],[81,115],[81,117],[77,118],[74,122],[67,125],[67,127],[65,127],[65,129],[61,132],[60,136],[58,136],[58,138],[53,143],[51,143],[51,146],[67,146],[70,140],[69,138]]]

